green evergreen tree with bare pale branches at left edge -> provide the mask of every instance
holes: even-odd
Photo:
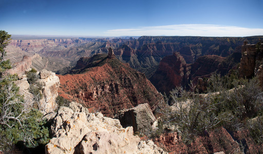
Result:
[[[0,31],[0,149],[7,152],[15,145],[37,147],[49,140],[43,114],[18,94],[19,87],[14,83],[17,75],[6,73],[11,68],[10,61],[5,58],[10,37],[6,31]],[[34,78],[31,79],[34,82]]]

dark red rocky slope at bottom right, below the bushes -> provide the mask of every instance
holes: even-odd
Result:
[[[155,143],[172,153],[242,153],[238,142],[223,127],[196,137],[190,145],[183,144],[176,132],[162,134]]]

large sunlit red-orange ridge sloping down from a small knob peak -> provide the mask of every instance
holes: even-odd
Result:
[[[82,102],[108,117],[114,117],[119,110],[143,103],[149,104],[154,110],[162,100],[162,95],[143,73],[117,59],[97,54],[85,62],[85,67],[59,75],[62,97]]]

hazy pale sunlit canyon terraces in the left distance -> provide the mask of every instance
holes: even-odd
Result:
[[[90,42],[78,38],[12,40],[7,47],[7,58],[15,63],[21,61],[24,55],[33,56],[37,53],[41,59],[34,61],[33,67],[39,70],[57,71],[63,67],[72,66],[82,56],[94,54],[103,43],[103,40]]]

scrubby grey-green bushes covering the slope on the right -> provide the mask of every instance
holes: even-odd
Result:
[[[185,91],[177,87],[160,104],[159,130],[152,133],[157,137],[164,128],[177,131],[188,145],[195,137],[223,126],[230,131],[248,129],[255,142],[262,143],[263,93],[257,78],[238,79],[236,74],[220,76],[214,74],[206,79],[206,93],[192,88]]]

